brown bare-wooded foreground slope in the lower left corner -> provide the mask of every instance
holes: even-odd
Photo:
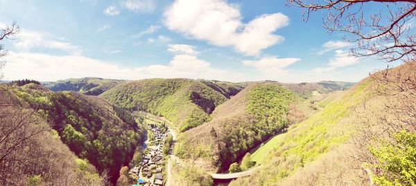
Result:
[[[15,90],[0,86],[0,97],[0,185],[107,184]]]

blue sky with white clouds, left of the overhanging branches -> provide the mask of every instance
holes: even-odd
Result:
[[[0,0],[0,26],[21,32],[4,80],[186,77],[244,82],[358,82],[387,64],[303,21],[283,0]]]

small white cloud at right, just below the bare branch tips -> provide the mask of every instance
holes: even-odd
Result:
[[[315,68],[315,72],[326,72],[333,71],[336,68],[351,66],[358,63],[358,57],[354,57],[348,53],[346,50],[335,50],[335,55],[329,59],[327,67],[324,68]]]

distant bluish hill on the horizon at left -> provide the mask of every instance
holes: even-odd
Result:
[[[73,78],[57,82],[42,82],[51,91],[76,91],[85,95],[100,95],[124,80],[108,80],[98,77]]]

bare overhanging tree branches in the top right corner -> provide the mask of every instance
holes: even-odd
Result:
[[[357,44],[357,57],[378,56],[388,62],[416,59],[416,0],[288,0],[304,11],[308,21],[311,12],[326,12],[324,28],[345,32],[344,39]],[[379,7],[378,13],[365,7]]]

